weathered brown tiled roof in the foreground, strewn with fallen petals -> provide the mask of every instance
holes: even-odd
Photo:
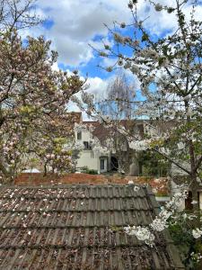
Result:
[[[0,269],[183,269],[164,235],[151,248],[122,229],[156,215],[149,187],[4,186],[0,200]]]

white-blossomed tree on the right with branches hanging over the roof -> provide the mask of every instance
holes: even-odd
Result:
[[[115,23],[110,35],[116,46],[104,44],[98,53],[115,59],[114,66],[103,67],[108,72],[123,67],[139,81],[141,96],[132,103],[136,103],[136,118],[145,118],[145,138],[136,138],[134,133],[122,130],[130,148],[139,151],[149,148],[189,175],[187,188],[193,193],[193,202],[198,201],[198,185],[202,184],[202,29],[195,14],[199,1],[176,0],[167,5],[145,2],[154,8],[156,15],[174,14],[175,31],[159,38],[153,36],[146,30],[146,19],[138,16],[137,1],[129,1],[133,23]],[[189,8],[189,18],[184,8]],[[105,116],[102,121],[106,122]],[[184,192],[177,193],[150,228],[127,228],[127,232],[151,243],[154,231],[165,229],[174,215],[179,216],[177,208],[185,197]],[[197,229],[190,232],[194,238],[201,237],[201,220]]]

